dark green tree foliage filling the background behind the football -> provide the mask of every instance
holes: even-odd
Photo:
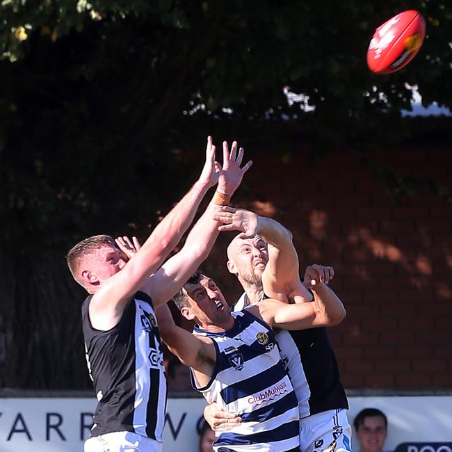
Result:
[[[401,72],[372,74],[373,30],[412,8],[427,20],[419,55]],[[444,0],[2,0],[0,250],[15,270],[0,289],[10,284],[6,306],[17,312],[18,293],[42,281],[62,281],[71,300],[56,270],[64,251],[89,234],[155,223],[195,179],[207,134],[271,140],[284,130],[284,145],[303,134],[319,155],[403,134],[405,83],[424,103],[452,107],[451,31]],[[290,105],[285,86],[315,111]],[[49,306],[63,303],[57,292]],[[63,314],[78,314],[80,296]],[[14,330],[9,317],[0,330]],[[10,366],[8,385],[29,381],[15,374]],[[79,385],[50,374],[33,385]]]

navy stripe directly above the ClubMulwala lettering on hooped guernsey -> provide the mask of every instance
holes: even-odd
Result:
[[[247,378],[246,380],[241,380],[229,385],[222,389],[221,396],[225,403],[231,403],[236,401],[238,398],[250,396],[250,394],[255,394],[259,391],[264,391],[264,389],[270,388],[277,382],[282,380],[286,376],[284,367],[280,362],[277,362],[270,369],[261,372],[255,376]],[[288,388],[288,390],[292,388]]]

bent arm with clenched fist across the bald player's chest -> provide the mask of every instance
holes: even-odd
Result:
[[[340,323],[346,316],[341,300],[321,281],[320,272],[313,266],[309,276],[314,301],[288,305],[278,300],[263,300],[250,308],[253,314],[260,316],[272,327],[282,330],[304,330]]]

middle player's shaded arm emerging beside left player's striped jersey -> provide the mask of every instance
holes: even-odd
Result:
[[[195,336],[177,326],[170,309],[162,305],[156,309],[161,339],[181,362],[210,378],[216,362],[216,350],[211,339]]]

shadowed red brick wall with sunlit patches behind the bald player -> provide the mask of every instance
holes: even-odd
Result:
[[[452,149],[392,152],[396,168],[450,186]],[[234,197],[293,232],[300,268],[334,266],[346,319],[330,330],[349,388],[452,388],[452,198],[422,191],[393,205],[350,152],[315,168],[300,150],[284,165],[263,153]],[[255,201],[255,200],[259,201]],[[224,271],[225,243],[211,256]],[[209,265],[209,264],[208,264]],[[240,293],[220,280],[229,299]]]

